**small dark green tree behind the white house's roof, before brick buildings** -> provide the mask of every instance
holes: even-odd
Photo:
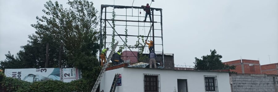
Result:
[[[222,63],[220,60],[221,55],[216,53],[216,50],[210,50],[211,54],[202,56],[202,59],[195,57],[195,69],[196,70],[222,70],[222,69],[235,69],[235,66],[229,66]]]

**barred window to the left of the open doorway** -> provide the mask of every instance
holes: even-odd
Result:
[[[159,92],[159,76],[144,74],[144,92]]]

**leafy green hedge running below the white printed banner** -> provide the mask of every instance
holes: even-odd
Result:
[[[43,81],[43,82],[26,82],[11,77],[6,77],[3,72],[0,72],[1,86],[8,92],[89,92],[92,90],[92,85],[95,79],[79,79],[72,82],[61,81]]]

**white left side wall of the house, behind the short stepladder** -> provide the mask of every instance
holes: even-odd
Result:
[[[112,86],[113,79],[115,74],[122,74],[122,83],[123,83],[123,68],[118,68],[114,70],[106,71],[100,81],[100,91],[109,92]],[[123,92],[123,86],[117,86],[115,92]]]

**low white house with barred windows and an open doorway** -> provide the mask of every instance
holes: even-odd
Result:
[[[100,90],[104,92],[110,91],[115,74],[121,74],[121,86],[117,86],[115,92],[231,92],[228,72],[135,67],[110,69],[100,82]]]

